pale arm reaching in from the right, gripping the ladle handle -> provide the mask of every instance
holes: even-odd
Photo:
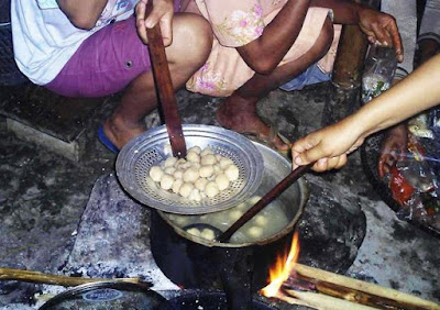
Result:
[[[340,168],[366,136],[437,106],[440,101],[440,55],[342,121],[310,133],[292,147],[293,164],[317,162],[314,169]]]

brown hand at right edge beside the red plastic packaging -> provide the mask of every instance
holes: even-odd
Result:
[[[391,129],[382,143],[378,157],[377,173],[381,178],[389,173],[389,169],[402,160],[408,145],[408,130],[405,124]]]

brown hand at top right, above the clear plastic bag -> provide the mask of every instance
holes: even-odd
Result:
[[[359,26],[372,44],[394,47],[399,63],[404,60],[404,47],[396,20],[386,13],[362,8],[359,12]]]

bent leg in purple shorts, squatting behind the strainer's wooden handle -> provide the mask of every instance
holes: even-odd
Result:
[[[198,15],[175,14],[173,44],[166,48],[174,88],[202,66],[212,44],[211,27]],[[156,106],[148,49],[138,36],[135,19],[110,24],[89,36],[57,77],[45,86],[66,97],[105,97],[124,90],[105,123],[120,148],[145,130],[144,117]]]

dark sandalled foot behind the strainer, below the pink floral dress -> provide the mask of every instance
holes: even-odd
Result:
[[[227,129],[239,133],[252,133],[262,140],[271,139],[271,128],[256,113],[257,99],[243,99],[232,95],[217,109],[217,121]],[[287,151],[289,146],[275,135],[271,143],[278,151]]]

